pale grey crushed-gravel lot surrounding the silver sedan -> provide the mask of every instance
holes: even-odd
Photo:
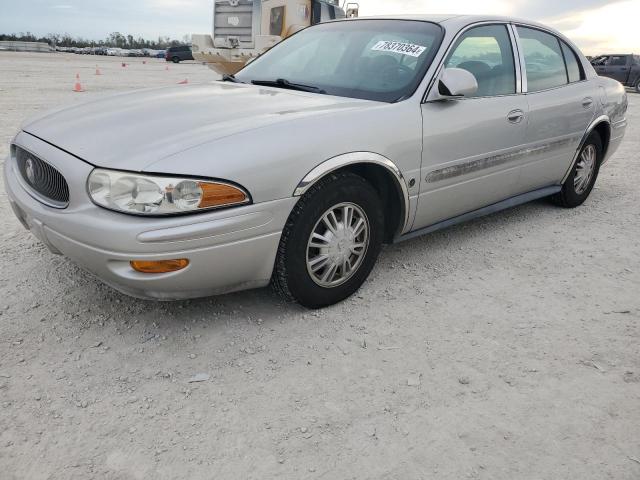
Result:
[[[43,109],[215,79],[120,62],[0,53],[0,158]],[[49,253],[0,186],[0,477],[640,478],[629,97],[627,139],[584,206],[539,201],[387,247],[357,296],[317,312],[266,289],[126,297]]]

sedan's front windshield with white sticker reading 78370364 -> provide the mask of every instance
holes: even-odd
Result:
[[[395,102],[413,94],[442,39],[434,23],[347,20],[307,28],[258,57],[236,80]]]

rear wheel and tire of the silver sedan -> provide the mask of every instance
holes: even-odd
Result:
[[[567,208],[582,205],[596,183],[601,161],[602,140],[597,132],[592,132],[584,142],[562,190],[553,195],[551,200]]]

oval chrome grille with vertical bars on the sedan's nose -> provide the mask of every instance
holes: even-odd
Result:
[[[69,185],[62,174],[30,152],[15,148],[22,179],[37,194],[36,197],[53,207],[65,208],[69,204]]]

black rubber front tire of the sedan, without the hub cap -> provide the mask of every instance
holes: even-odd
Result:
[[[320,218],[332,207],[348,203],[366,215],[369,243],[351,276],[337,286],[316,283],[307,270],[307,243]],[[352,295],[369,276],[384,236],[383,205],[377,191],[364,178],[349,172],[329,174],[298,201],[282,231],[271,285],[286,300],[307,308],[321,308]]]

